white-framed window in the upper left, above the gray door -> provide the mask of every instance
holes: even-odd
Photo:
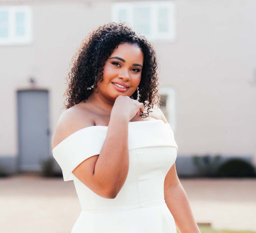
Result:
[[[0,45],[31,44],[31,9],[29,6],[0,7]]]

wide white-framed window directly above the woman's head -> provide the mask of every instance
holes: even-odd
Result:
[[[116,2],[112,5],[112,21],[126,22],[149,40],[175,39],[174,2]]]

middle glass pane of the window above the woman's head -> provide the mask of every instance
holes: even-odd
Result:
[[[144,35],[150,35],[150,19],[150,8],[135,8],[134,26],[136,30],[140,31]]]

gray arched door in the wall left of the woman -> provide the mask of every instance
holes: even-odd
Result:
[[[18,91],[19,171],[40,171],[49,154],[48,91]]]

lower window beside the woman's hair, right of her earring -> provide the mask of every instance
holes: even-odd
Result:
[[[162,99],[161,110],[170,124],[173,131],[176,129],[175,121],[175,91],[173,88],[160,88],[159,93]]]

